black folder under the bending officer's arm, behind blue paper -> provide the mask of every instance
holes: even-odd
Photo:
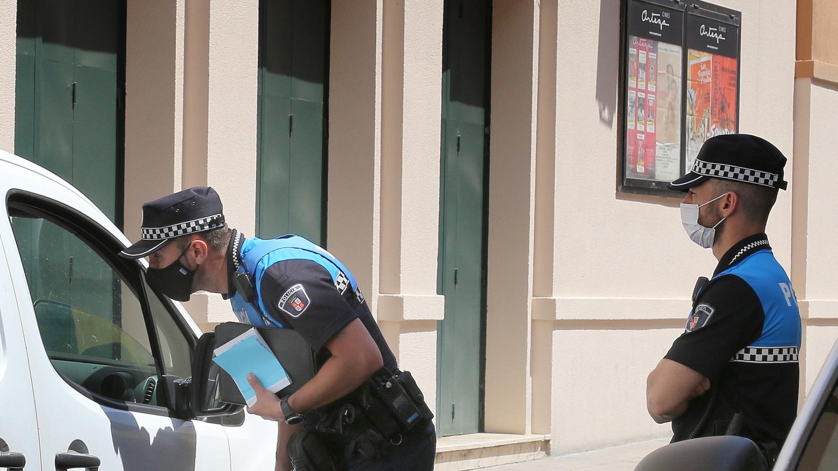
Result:
[[[265,339],[268,348],[277,356],[277,360],[291,378],[291,384],[277,392],[277,397],[291,396],[314,377],[317,371],[316,355],[297,330],[225,322],[215,326],[215,347],[218,348],[253,328]],[[235,381],[224,370],[219,369],[218,381],[221,401],[245,404],[245,398],[235,386]]]

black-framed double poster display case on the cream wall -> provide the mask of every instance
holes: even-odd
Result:
[[[677,196],[711,136],[738,131],[740,15],[709,3],[623,2],[618,192]]]

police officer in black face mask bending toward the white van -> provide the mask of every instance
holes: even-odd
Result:
[[[246,238],[228,228],[211,187],[189,188],[144,204],[142,238],[121,254],[148,257],[148,284],[172,299],[186,301],[199,290],[223,294],[242,322],[297,330],[318,352],[323,363],[317,374],[282,400],[252,375],[248,378],[257,397],[248,411],[287,422],[279,427],[277,469],[291,468],[287,443],[302,429],[297,423],[301,417],[327,417],[330,406],[358,392],[382,367],[398,372],[396,357],[363,294],[339,260],[304,238]],[[248,270],[256,296],[252,302],[243,299],[234,283],[236,273]],[[433,468],[436,434],[430,420],[386,442],[374,440],[372,446],[366,437],[333,444],[344,448],[337,450],[344,469]]]

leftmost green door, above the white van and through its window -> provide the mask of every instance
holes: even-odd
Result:
[[[117,226],[124,31],[125,2],[18,0],[14,151],[70,182]],[[14,230],[34,296],[84,300],[96,314],[119,320],[115,279],[107,270],[91,271],[96,255],[77,238],[27,218]]]

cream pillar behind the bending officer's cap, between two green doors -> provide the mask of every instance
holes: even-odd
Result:
[[[204,26],[206,18],[209,18],[209,28]],[[190,95],[186,103],[190,115],[185,120],[188,127],[184,148],[189,151],[190,168],[184,171],[184,182],[215,188],[224,203],[230,227],[253,237],[259,3],[193,0],[187,21]],[[204,46],[204,38],[209,38],[209,49]],[[208,58],[209,76],[203,73],[204,57]],[[207,90],[205,101],[202,90]],[[202,161],[204,122],[207,140],[206,157]],[[201,182],[204,168],[206,181]],[[187,309],[204,329],[212,323],[235,320],[229,302],[221,299],[220,294],[193,294]]]

